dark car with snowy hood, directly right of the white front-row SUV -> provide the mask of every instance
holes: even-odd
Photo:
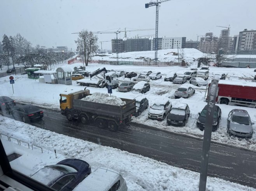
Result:
[[[185,126],[188,122],[190,110],[188,104],[177,103],[172,107],[170,114],[167,116],[168,125]]]

